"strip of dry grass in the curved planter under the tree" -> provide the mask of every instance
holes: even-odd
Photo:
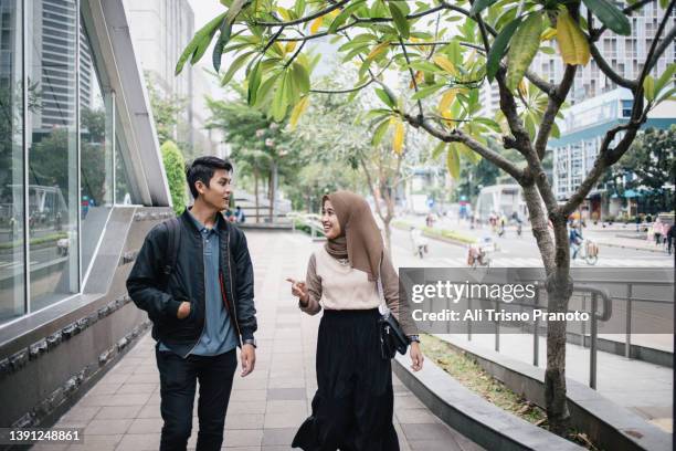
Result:
[[[494,378],[476,363],[472,355],[458,352],[444,340],[431,335],[421,335],[420,338],[424,355],[463,386],[500,409],[549,430],[547,413],[543,409]],[[589,440],[585,433],[574,428],[568,429],[566,439],[589,450],[602,451]]]

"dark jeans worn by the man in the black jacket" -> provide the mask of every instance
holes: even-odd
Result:
[[[160,451],[186,450],[192,429],[196,382],[200,381],[197,451],[220,450],[232,379],[237,368],[236,348],[219,356],[189,355],[155,348],[160,373],[160,410],[165,426]]]

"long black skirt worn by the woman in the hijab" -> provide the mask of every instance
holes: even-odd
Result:
[[[324,311],[313,413],[298,429],[293,448],[399,451],[392,367],[380,356],[379,317],[378,308]]]

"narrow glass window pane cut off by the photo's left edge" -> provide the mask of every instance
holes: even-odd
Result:
[[[25,313],[21,0],[0,0],[0,323]]]

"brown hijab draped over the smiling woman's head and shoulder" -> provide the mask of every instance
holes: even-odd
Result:
[[[327,240],[326,251],[336,259],[348,259],[350,266],[363,271],[369,281],[378,280],[383,244],[368,202],[351,191],[336,191],[321,198],[330,200],[340,223],[340,235]]]

